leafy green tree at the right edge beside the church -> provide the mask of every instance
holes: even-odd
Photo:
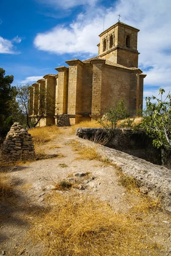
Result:
[[[165,90],[159,89],[159,98],[146,97],[146,114],[142,119],[142,128],[154,137],[153,144],[157,148],[163,146],[171,150],[171,94],[163,99]],[[153,102],[157,100],[157,102]]]

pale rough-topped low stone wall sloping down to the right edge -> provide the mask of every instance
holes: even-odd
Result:
[[[79,129],[77,134],[81,131],[81,129]],[[75,138],[83,144],[95,145],[89,140],[84,140],[78,137]],[[111,162],[122,167],[122,170],[126,175],[135,177],[142,186],[142,191],[147,192],[152,198],[160,196],[165,209],[171,212],[171,170],[113,148],[108,148],[99,144],[96,144],[96,148],[102,157],[106,157]]]

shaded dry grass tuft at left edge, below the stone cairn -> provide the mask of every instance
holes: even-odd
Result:
[[[13,186],[9,177],[0,173],[0,200],[4,201],[13,194]]]

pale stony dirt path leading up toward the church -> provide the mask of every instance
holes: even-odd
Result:
[[[16,199],[12,203],[3,202],[0,206],[0,253],[4,250],[6,255],[41,255],[42,248],[32,248],[24,241],[29,230],[25,216],[46,207],[44,198],[52,191],[51,186],[64,179],[72,182],[75,176],[71,175],[77,172],[90,172],[88,177],[78,178],[83,186],[83,189],[76,189],[78,193],[86,193],[107,201],[115,212],[126,212],[130,209],[131,205],[125,199],[127,192],[118,184],[114,167],[105,166],[96,160],[78,160],[78,153],[72,150],[71,145],[74,139],[75,135],[71,135],[70,128],[64,129],[64,134],[58,135],[56,140],[46,145],[47,154],[59,154],[59,157],[16,166],[9,173]],[[67,167],[62,168],[60,164]],[[154,216],[154,226],[158,218],[161,220],[163,231],[162,235],[156,235],[154,239],[159,237],[158,240],[165,244],[167,253],[163,251],[161,255],[171,255],[171,240],[168,235],[171,226],[162,223],[162,219],[165,218],[162,213],[160,216]]]

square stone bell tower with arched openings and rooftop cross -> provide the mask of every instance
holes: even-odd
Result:
[[[99,35],[98,56],[125,67],[138,67],[138,32],[139,29],[117,22]]]

